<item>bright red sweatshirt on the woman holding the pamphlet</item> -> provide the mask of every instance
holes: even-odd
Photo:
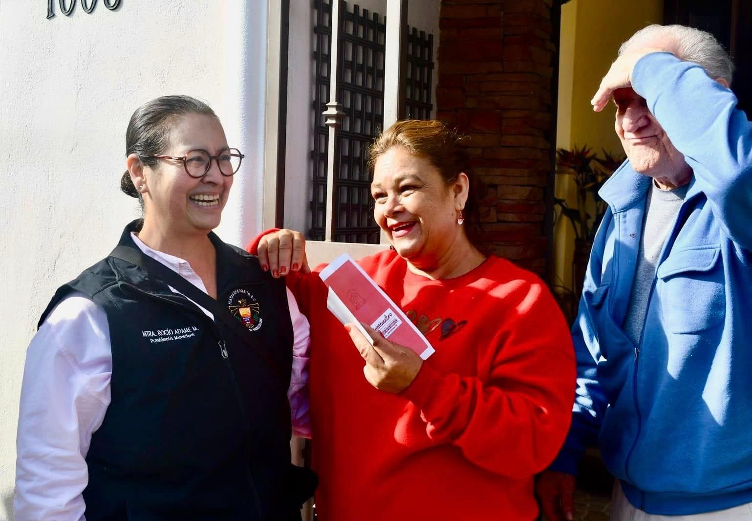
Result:
[[[393,251],[359,264],[436,352],[402,394],[374,389],[317,274],[288,277],[311,323],[319,519],[535,519],[533,474],[558,453],[575,390],[569,329],[544,283],[495,256],[447,280]]]

